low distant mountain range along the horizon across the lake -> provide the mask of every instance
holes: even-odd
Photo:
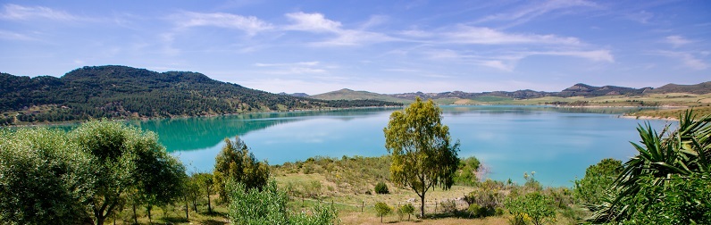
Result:
[[[442,98],[460,98],[460,99],[477,99],[486,97],[506,97],[512,99],[531,99],[539,98],[545,96],[560,96],[560,97],[570,97],[570,96],[640,96],[645,94],[664,94],[664,93],[690,93],[690,94],[708,94],[711,93],[711,81],[704,82],[696,85],[676,85],[667,84],[663,87],[617,87],[617,86],[603,86],[595,87],[586,84],[575,84],[572,87],[565,88],[559,92],[546,92],[546,91],[534,91],[530,89],[517,90],[517,91],[492,91],[492,92],[479,92],[470,93],[464,91],[451,91],[451,92],[441,92],[441,93],[402,93],[402,94],[377,94],[367,91],[354,91],[350,89],[340,89],[337,91],[332,91],[328,93],[323,93],[319,95],[309,96],[316,99],[377,99],[381,101],[388,102],[399,102],[408,103],[414,100],[415,97],[419,96],[424,99],[442,99]],[[405,100],[405,101],[404,101]]]

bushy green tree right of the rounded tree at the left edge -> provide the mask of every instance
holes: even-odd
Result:
[[[180,196],[185,168],[158,143],[155,133],[119,121],[88,121],[70,136],[96,166],[94,194],[89,198],[96,224],[104,224],[130,199],[134,206],[152,205]]]

